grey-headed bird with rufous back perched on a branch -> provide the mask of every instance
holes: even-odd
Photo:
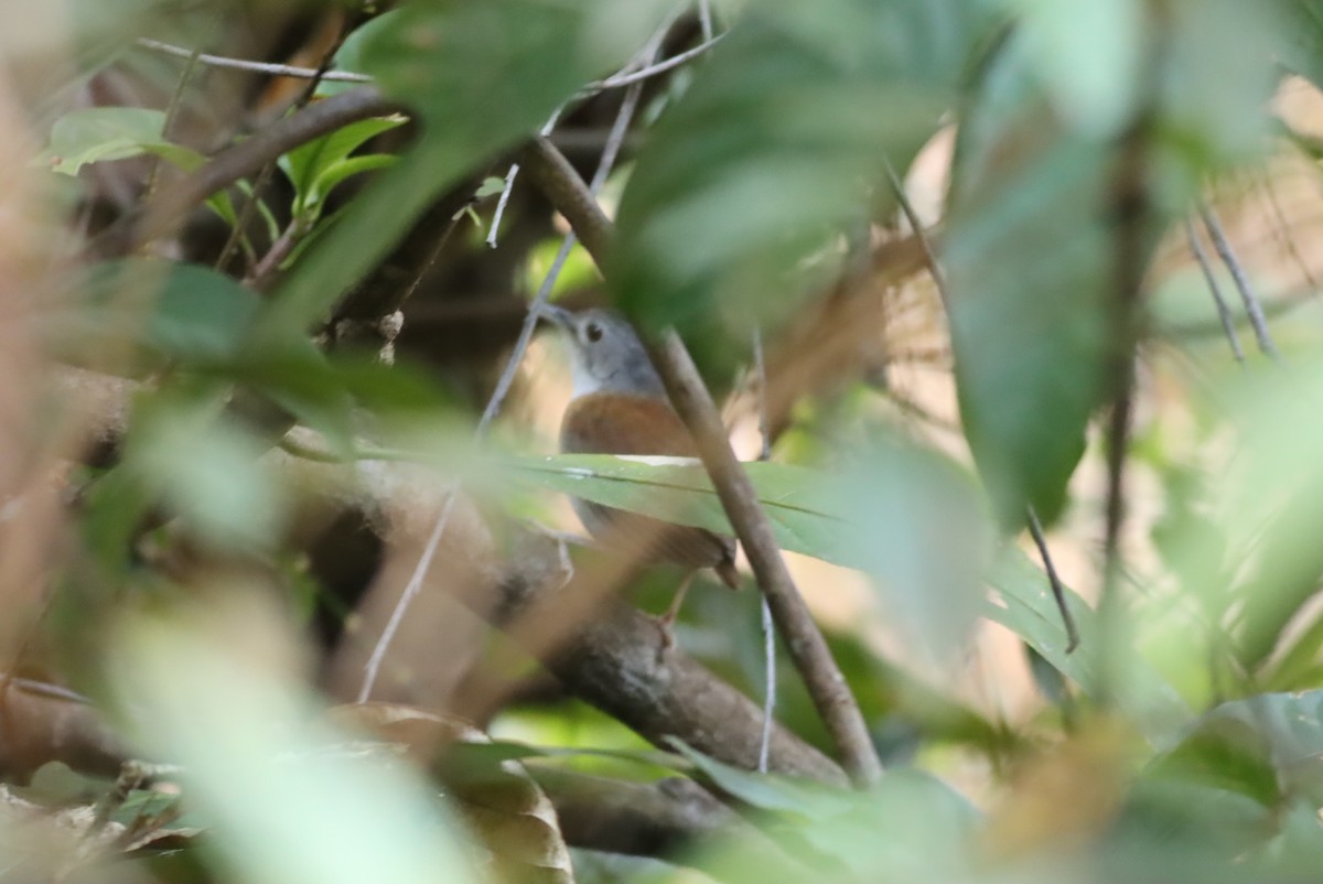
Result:
[[[561,418],[561,451],[699,457],[693,435],[671,406],[643,341],[623,316],[610,310],[570,311],[554,304],[544,304],[541,316],[569,341],[573,390]],[[570,502],[594,539],[635,545],[630,552],[643,561],[669,561],[688,569],[660,618],[667,647],[673,644],[671,627],[699,570],[712,568],[726,586],[740,588],[733,537],[581,498]]]

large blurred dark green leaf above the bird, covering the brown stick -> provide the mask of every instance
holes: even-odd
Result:
[[[785,320],[955,101],[982,4],[750,5],[650,135],[607,273],[646,328]],[[703,333],[695,340],[706,340]]]

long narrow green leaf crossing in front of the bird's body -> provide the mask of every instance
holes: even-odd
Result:
[[[908,459],[901,463],[906,470],[914,470],[918,464]],[[516,474],[544,488],[680,524],[730,533],[721,502],[706,474],[696,463],[568,454],[516,459],[509,464]],[[1122,707],[1154,741],[1168,741],[1175,729],[1188,720],[1189,713],[1176,692],[1142,660],[1126,662],[1122,667],[1125,672],[1122,684],[1101,683],[1093,610],[1074,593],[1069,593],[1072,611],[1085,637],[1085,644],[1091,647],[1073,654],[1065,652],[1065,629],[1052,598],[1048,578],[1019,549],[1004,549],[990,562],[991,568],[984,574],[983,565],[988,562],[983,561],[976,549],[946,547],[947,543],[958,540],[976,544],[979,531],[978,521],[971,521],[967,529],[949,535],[954,517],[950,508],[937,507],[925,513],[922,506],[913,506],[919,488],[927,488],[929,492],[941,491],[941,484],[930,483],[934,476],[943,475],[942,472],[926,475],[925,482],[917,483],[910,492],[900,495],[894,503],[909,519],[908,524],[900,525],[896,524],[900,516],[882,517],[875,523],[864,517],[860,508],[880,506],[873,500],[878,492],[904,491],[901,486],[892,486],[884,491],[882,487],[867,480],[861,483],[859,472],[832,476],[819,470],[771,462],[744,466],[758,490],[758,499],[783,549],[857,568],[865,573],[878,574],[882,580],[893,574],[893,580],[898,581],[893,594],[901,596],[900,603],[930,605],[934,618],[947,618],[945,629],[951,630],[945,635],[947,639],[967,629],[968,621],[974,617],[980,614],[991,617],[1028,642],[1053,667],[1078,683],[1086,693],[1099,696],[1115,691]],[[975,506],[972,498],[967,499],[967,506]],[[881,536],[886,531],[894,531],[896,536],[890,539]],[[908,553],[894,548],[906,541],[916,544],[921,552]],[[904,572],[912,561],[910,553],[923,560],[943,556],[953,560],[967,557],[959,566],[963,572],[959,580],[968,581],[970,585],[962,586],[959,582],[955,586],[937,585],[943,569],[953,568],[950,562],[933,565],[927,574],[906,582]],[[1004,607],[983,603],[978,586],[982,586],[980,581],[984,577],[1002,596]],[[906,593],[919,592],[931,596],[918,599],[904,598]],[[912,613],[905,622],[912,629],[925,625],[922,615],[916,617]]]

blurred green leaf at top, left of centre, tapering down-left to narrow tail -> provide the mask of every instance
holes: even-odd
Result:
[[[414,4],[372,22],[357,45],[363,70],[417,111],[422,134],[282,281],[263,328],[324,318],[447,187],[636,52],[668,9],[660,0]]]

